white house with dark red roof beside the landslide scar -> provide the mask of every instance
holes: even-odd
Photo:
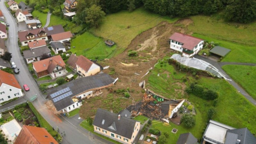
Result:
[[[204,40],[178,32],[175,32],[169,39],[170,48],[182,52],[182,55],[186,57],[197,54],[204,45]]]

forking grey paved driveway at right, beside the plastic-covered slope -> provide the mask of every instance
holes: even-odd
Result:
[[[210,59],[207,59],[203,56],[200,55],[194,55],[195,58],[206,61],[210,64],[212,64],[215,68],[217,68],[227,79],[228,83],[230,83],[231,85],[233,85],[237,91],[239,91],[242,95],[244,95],[245,98],[247,98],[252,104],[256,105],[256,100],[253,99],[243,88],[241,88],[230,76],[228,76],[228,74],[221,68],[221,66],[223,65],[227,65],[227,64],[237,64],[237,65],[248,65],[248,66],[254,66],[256,64],[252,64],[252,63],[240,63],[240,62],[216,62],[216,61],[212,61]]]

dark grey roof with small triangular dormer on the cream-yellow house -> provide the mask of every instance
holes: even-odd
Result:
[[[109,126],[113,126],[113,124],[115,125],[116,130],[109,128]],[[122,116],[118,120],[118,114],[108,112],[100,108],[97,110],[93,121],[94,126],[108,130],[112,133],[116,133],[117,135],[123,136],[128,139],[132,138],[132,133],[134,131],[135,124],[136,120]]]

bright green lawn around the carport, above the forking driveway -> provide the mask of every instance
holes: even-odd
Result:
[[[204,39],[204,40],[208,40],[208,41],[219,42],[221,47],[226,47],[230,49],[231,52],[227,54],[222,61],[256,63],[255,47],[246,46],[243,44],[238,44],[238,43],[229,42],[229,41],[224,41],[220,39],[213,39],[197,33],[193,34],[193,36]]]

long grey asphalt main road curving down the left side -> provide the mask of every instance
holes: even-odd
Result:
[[[8,30],[8,40],[5,44],[10,53],[12,53],[12,60],[14,61],[16,66],[20,68],[20,74],[15,75],[20,85],[28,84],[30,90],[25,92],[25,99],[30,99],[31,97],[37,95],[37,99],[33,101],[36,109],[41,113],[41,115],[56,128],[59,127],[60,133],[65,131],[66,136],[63,138],[62,144],[98,144],[103,143],[96,138],[93,138],[93,135],[89,136],[84,131],[80,130],[76,126],[73,126],[63,117],[56,116],[51,110],[48,110],[45,105],[45,98],[41,95],[36,82],[30,75],[28,68],[20,54],[20,48],[18,46],[18,25],[16,23],[15,18],[11,15],[11,13],[7,10],[4,5],[4,0],[0,2],[0,9],[2,10],[6,22],[9,23]]]

